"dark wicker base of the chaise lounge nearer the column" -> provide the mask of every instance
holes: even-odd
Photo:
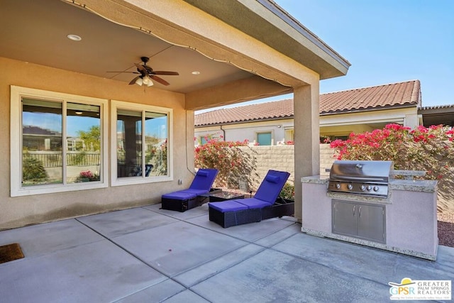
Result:
[[[209,208],[209,219],[223,228],[260,222],[270,218],[281,218],[282,216],[292,216],[294,214],[294,201],[278,198],[272,206],[262,209],[245,209],[240,211],[221,212]]]

